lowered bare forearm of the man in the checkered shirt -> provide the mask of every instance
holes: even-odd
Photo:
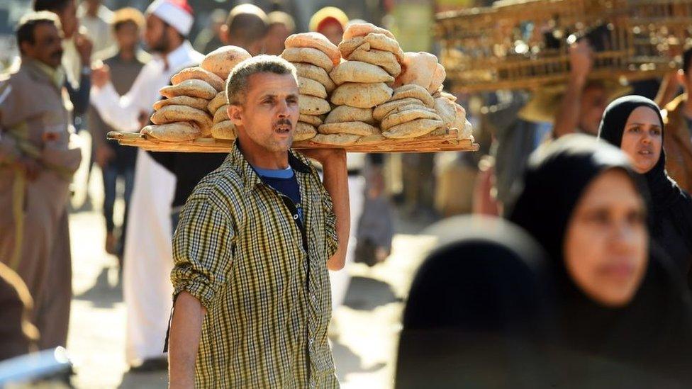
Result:
[[[169,339],[169,388],[194,388],[194,366],[205,310],[199,300],[182,292],[175,300]]]

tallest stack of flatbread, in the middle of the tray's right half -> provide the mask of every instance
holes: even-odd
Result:
[[[344,61],[330,72],[337,85],[330,96],[335,108],[320,125],[313,142],[325,145],[369,144],[384,140],[372,110],[392,95],[401,72],[403,51],[388,30],[355,23],[344,32],[339,51]]]

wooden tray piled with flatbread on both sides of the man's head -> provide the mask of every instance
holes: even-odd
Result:
[[[164,98],[153,105],[151,125],[138,134],[108,133],[108,139],[151,151],[228,152],[238,133],[228,117],[224,80],[250,57],[235,46],[214,50],[199,67],[183,69],[160,90]],[[298,81],[296,149],[479,148],[466,110],[456,96],[442,91],[446,73],[437,57],[403,52],[388,30],[355,23],[339,45],[319,33],[294,34],[286,38],[281,58],[294,65]]]

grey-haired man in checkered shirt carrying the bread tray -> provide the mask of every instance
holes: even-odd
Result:
[[[349,235],[344,150],[291,150],[295,67],[260,55],[228,77],[238,132],[173,238],[171,388],[338,388],[328,269]],[[306,157],[323,166],[324,181]]]

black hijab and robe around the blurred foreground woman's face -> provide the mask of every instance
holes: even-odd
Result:
[[[624,171],[642,186],[622,151],[586,135],[561,137],[531,155],[508,218],[527,230],[550,256],[558,283],[564,347],[587,358],[678,374],[682,370],[677,363],[691,361],[692,305],[681,278],[665,259],[649,256],[642,286],[623,308],[607,308],[588,298],[564,264],[564,236],[573,210],[588,184],[611,169]]]

